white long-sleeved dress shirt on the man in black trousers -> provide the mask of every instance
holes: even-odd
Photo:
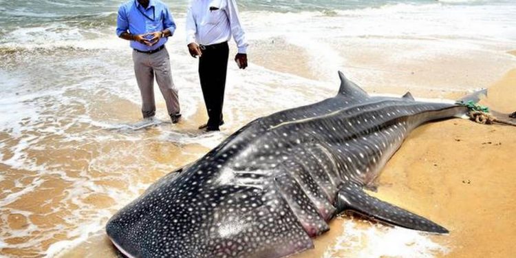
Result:
[[[192,0],[186,14],[186,43],[213,45],[233,39],[238,52],[246,54],[248,43],[241,28],[235,0]]]

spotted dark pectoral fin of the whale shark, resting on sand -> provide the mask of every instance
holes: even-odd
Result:
[[[448,233],[446,228],[424,217],[368,195],[356,184],[346,184],[338,191],[336,206],[339,212],[354,211],[395,226],[431,233]]]

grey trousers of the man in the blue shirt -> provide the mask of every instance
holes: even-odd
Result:
[[[153,54],[133,51],[134,74],[142,94],[142,114],[144,118],[155,115],[154,76],[165,99],[169,115],[180,112],[178,89],[175,88],[170,70],[169,52],[166,48]]]

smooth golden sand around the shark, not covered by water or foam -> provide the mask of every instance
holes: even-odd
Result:
[[[489,89],[485,101],[496,103],[500,111],[516,109],[515,87],[513,69]],[[422,125],[389,160],[374,195],[447,227],[449,235],[431,237],[449,250],[437,257],[512,257],[516,251],[515,132],[515,127],[460,119]],[[313,250],[292,257],[323,257],[336,246],[347,219],[334,219],[331,230],[314,239]],[[349,257],[350,253],[352,248],[332,252],[332,257]],[[63,257],[115,254],[109,239],[99,233]]]

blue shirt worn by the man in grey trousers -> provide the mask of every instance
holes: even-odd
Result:
[[[144,8],[137,0],[130,0],[122,3],[120,8],[118,8],[118,18],[116,19],[116,34],[118,36],[122,32],[146,34],[166,29],[169,29],[171,35],[173,35],[175,23],[169,7],[162,3],[162,1],[150,0],[149,6]],[[131,47],[147,52],[164,45],[166,41],[167,38],[161,38],[158,43],[151,47],[137,41],[131,41]]]

